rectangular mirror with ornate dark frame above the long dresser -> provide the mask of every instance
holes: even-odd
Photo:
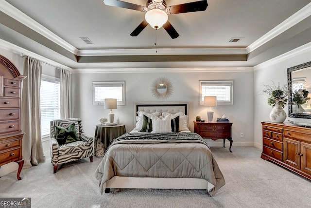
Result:
[[[303,63],[287,69],[287,83],[289,89],[289,95],[297,93],[299,90],[309,91],[308,96],[311,98],[311,62]],[[303,97],[303,95],[301,95]],[[294,118],[309,118],[311,119],[311,100],[309,102],[302,102],[294,104],[294,97],[289,96],[288,115]]]

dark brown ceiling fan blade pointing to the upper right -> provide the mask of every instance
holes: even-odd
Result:
[[[169,7],[170,14],[179,14],[186,12],[198,12],[206,10],[208,4],[207,0],[200,0],[190,3],[178,4]]]

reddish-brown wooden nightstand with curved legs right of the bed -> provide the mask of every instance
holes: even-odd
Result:
[[[194,123],[194,132],[202,136],[204,139],[224,139],[224,147],[225,147],[225,139],[228,139],[230,142],[229,151],[231,151],[232,146],[232,137],[231,137],[231,126],[232,123],[225,122],[199,122],[193,121]]]

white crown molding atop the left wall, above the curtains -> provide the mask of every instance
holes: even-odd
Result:
[[[49,58],[42,57],[42,56],[40,56],[34,52],[28,51],[24,48],[21,48],[17,45],[14,45],[14,44],[7,42],[5,40],[2,40],[2,39],[0,39],[0,48],[7,50],[7,51],[10,51],[10,52],[15,53],[15,54],[23,54],[26,56],[34,57],[34,58],[36,58],[36,59],[38,59],[38,60],[40,60],[46,64],[52,65],[55,68],[66,69],[66,70],[69,70],[70,72],[72,72],[72,69],[68,66],[57,63],[56,61],[53,61]]]

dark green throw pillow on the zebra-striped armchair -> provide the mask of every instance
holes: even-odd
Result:
[[[69,124],[67,127],[55,126],[55,135],[59,145],[80,141],[74,123]]]

